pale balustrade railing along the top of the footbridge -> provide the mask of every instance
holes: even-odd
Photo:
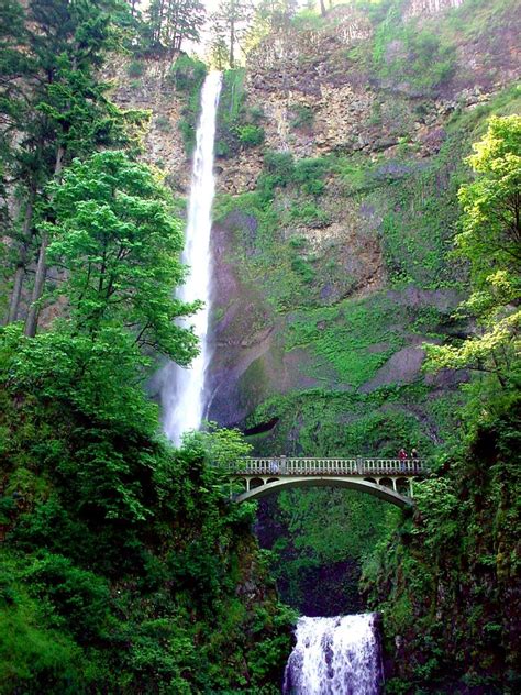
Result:
[[[248,457],[230,464],[235,475],[421,475],[425,459]]]

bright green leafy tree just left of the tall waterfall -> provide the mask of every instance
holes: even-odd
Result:
[[[75,161],[51,188],[55,219],[45,221],[44,210],[43,233],[52,263],[66,272],[57,294],[77,329],[95,337],[117,323],[141,348],[188,364],[196,337],[175,320],[198,305],[174,297],[185,275],[182,229],[152,172],[109,151]]]

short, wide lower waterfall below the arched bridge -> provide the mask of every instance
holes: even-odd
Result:
[[[376,616],[302,617],[284,679],[285,695],[378,695],[383,688]]]

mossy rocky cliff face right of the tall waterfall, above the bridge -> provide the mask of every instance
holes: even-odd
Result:
[[[414,1],[401,16],[337,8],[266,37],[248,59],[244,111],[265,140],[219,162],[229,196],[215,224],[210,417],[243,427],[278,418],[260,449],[287,446],[285,412],[324,388],[354,394],[332,406],[336,424],[346,411],[359,420],[364,394],[415,388],[414,404],[402,389],[413,432],[403,435],[425,446],[440,435],[433,402],[465,375],[423,377],[421,344],[468,328],[450,318],[465,273],[446,256],[461,158],[519,67],[509,8],[461,4]],[[268,203],[259,191],[278,173],[266,152],[297,168]],[[341,351],[352,354],[342,361]],[[292,439],[308,453],[320,440]],[[333,441],[317,453],[339,453]]]

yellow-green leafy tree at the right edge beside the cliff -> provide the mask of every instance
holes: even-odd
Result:
[[[521,311],[521,118],[494,117],[468,163],[476,180],[459,190],[456,254],[468,261],[473,291],[459,309],[477,334],[429,345],[431,368],[488,372],[506,386],[519,366]]]

